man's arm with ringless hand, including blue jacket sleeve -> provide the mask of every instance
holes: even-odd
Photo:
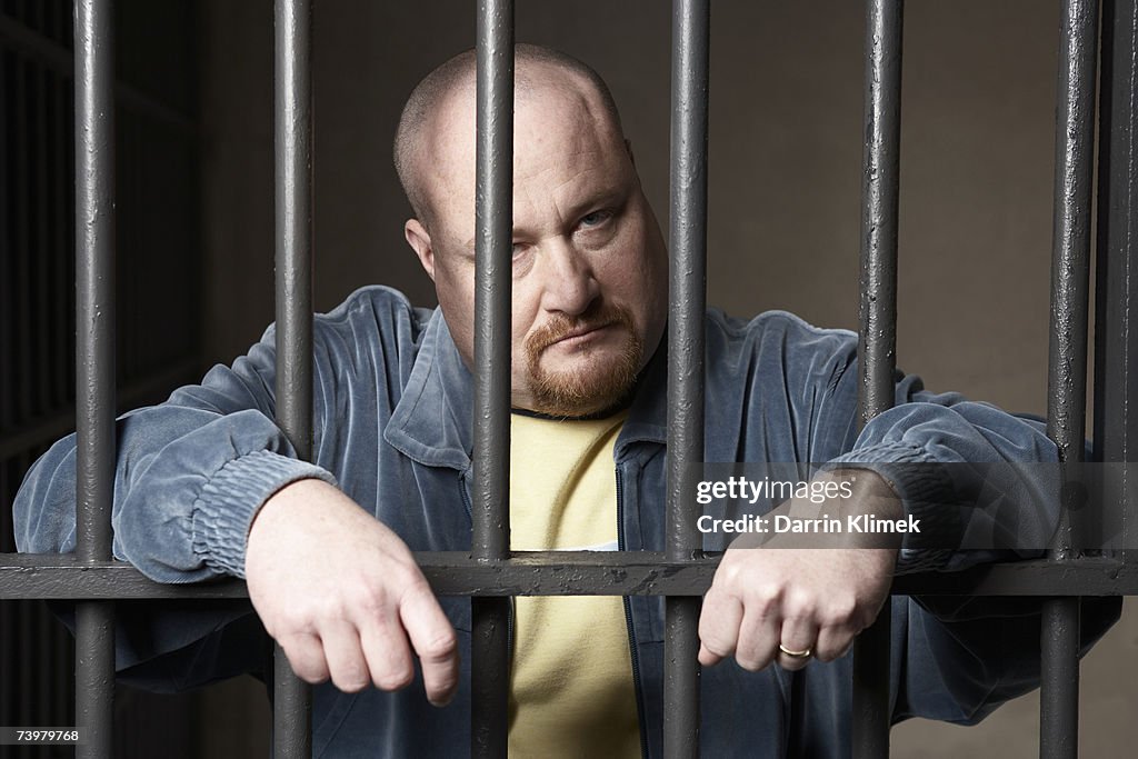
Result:
[[[398,340],[412,328],[409,320],[398,320],[398,304],[390,300],[394,299],[349,302],[349,307],[333,314],[337,323],[348,322],[340,330],[328,323],[331,319],[318,321],[318,437],[322,424],[338,423],[340,419],[329,409],[341,412],[341,403],[351,403],[347,391],[337,395],[344,377],[356,371],[354,362],[358,356],[353,353],[351,340],[371,341],[370,345],[382,347],[379,353],[385,360],[391,356],[389,364],[368,365],[369,371],[377,372],[369,378],[371,387],[397,383],[401,362],[410,361],[411,352],[401,354]],[[393,337],[396,335],[399,337]],[[418,645],[421,633],[414,626],[422,619],[434,647],[419,653],[439,662],[437,668],[428,667],[428,692],[435,700],[445,700],[450,668],[456,667],[455,655],[445,645],[453,630],[429,592],[424,596],[407,591],[426,588],[426,583],[413,564],[405,567],[404,558],[410,554],[402,542],[332,487],[335,480],[328,469],[295,459],[288,440],[272,421],[273,381],[270,333],[232,369],[215,368],[201,385],[182,388],[167,403],[119,420],[113,511],[115,556],[131,561],[158,581],[248,577],[250,597],[271,632],[290,638],[296,637],[296,627],[300,626],[322,642],[321,652],[327,653],[329,670],[300,666],[302,674],[313,680],[330,676],[346,688],[357,690],[356,680],[347,671],[352,669],[353,657],[343,653],[344,646],[336,641],[348,636],[323,635],[341,625],[344,609],[373,611],[354,621],[353,629],[361,640],[372,635],[373,629],[384,629],[388,636],[402,641],[404,657],[368,662],[376,682],[388,686],[402,683],[401,667],[405,669],[410,660],[406,638],[399,637],[404,626],[414,628],[409,632],[412,643]],[[332,449],[322,455],[332,468],[337,462],[343,463],[341,453]],[[316,488],[316,484],[322,488]],[[68,438],[36,463],[17,497],[19,548],[72,551],[73,504],[74,439]],[[250,546],[271,546],[255,553],[248,567],[247,538]],[[374,546],[381,542],[386,542],[387,550],[376,551]],[[282,546],[288,546],[283,553]],[[257,560],[265,555],[272,560]],[[336,562],[340,559],[358,568],[353,581],[340,571],[343,567]],[[396,564],[401,571],[390,570]],[[296,581],[282,581],[283,577]],[[299,587],[308,588],[303,604],[294,595]],[[336,593],[340,593],[339,608],[332,603]],[[376,597],[390,602],[373,603]],[[320,605],[321,602],[328,603]],[[199,611],[206,608],[192,607],[193,612],[184,624],[175,626],[164,624],[158,616],[143,616],[131,620],[132,627],[121,627],[119,668],[149,661],[151,671],[162,670],[163,677],[167,677],[172,657],[181,655],[195,666],[204,662],[205,666],[192,676],[182,671],[170,675],[178,684],[192,685],[233,674],[232,657],[199,654],[215,651],[216,637],[239,614],[231,609],[225,613]],[[302,608],[304,614],[294,613]],[[249,647],[244,659],[254,662],[259,659],[259,651],[255,645]],[[288,644],[286,651],[294,655]],[[338,662],[349,663],[341,668]],[[438,671],[437,685],[430,680],[434,671]]]

